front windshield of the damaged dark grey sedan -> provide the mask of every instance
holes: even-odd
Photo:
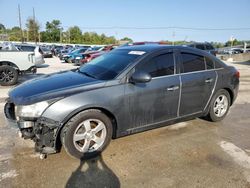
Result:
[[[138,55],[127,50],[106,53],[80,67],[79,72],[98,80],[112,80],[132,64]]]

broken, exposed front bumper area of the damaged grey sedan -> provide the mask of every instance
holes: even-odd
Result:
[[[15,105],[7,102],[4,106],[4,114],[7,125],[18,128],[24,139],[32,139],[35,142],[35,151],[51,154],[60,150],[57,135],[60,124],[54,120],[40,117],[33,121],[16,120]]]

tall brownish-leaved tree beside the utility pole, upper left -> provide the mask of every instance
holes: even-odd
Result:
[[[36,20],[33,18],[28,18],[26,22],[26,27],[28,30],[28,40],[37,42],[39,39],[39,29],[40,26]]]

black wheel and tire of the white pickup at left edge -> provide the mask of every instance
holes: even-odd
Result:
[[[9,66],[3,65],[0,66],[0,85],[2,86],[11,86],[15,85],[18,80],[18,71]]]

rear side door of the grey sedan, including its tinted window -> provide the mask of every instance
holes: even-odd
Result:
[[[202,112],[216,83],[213,61],[192,51],[181,51],[180,116]]]

